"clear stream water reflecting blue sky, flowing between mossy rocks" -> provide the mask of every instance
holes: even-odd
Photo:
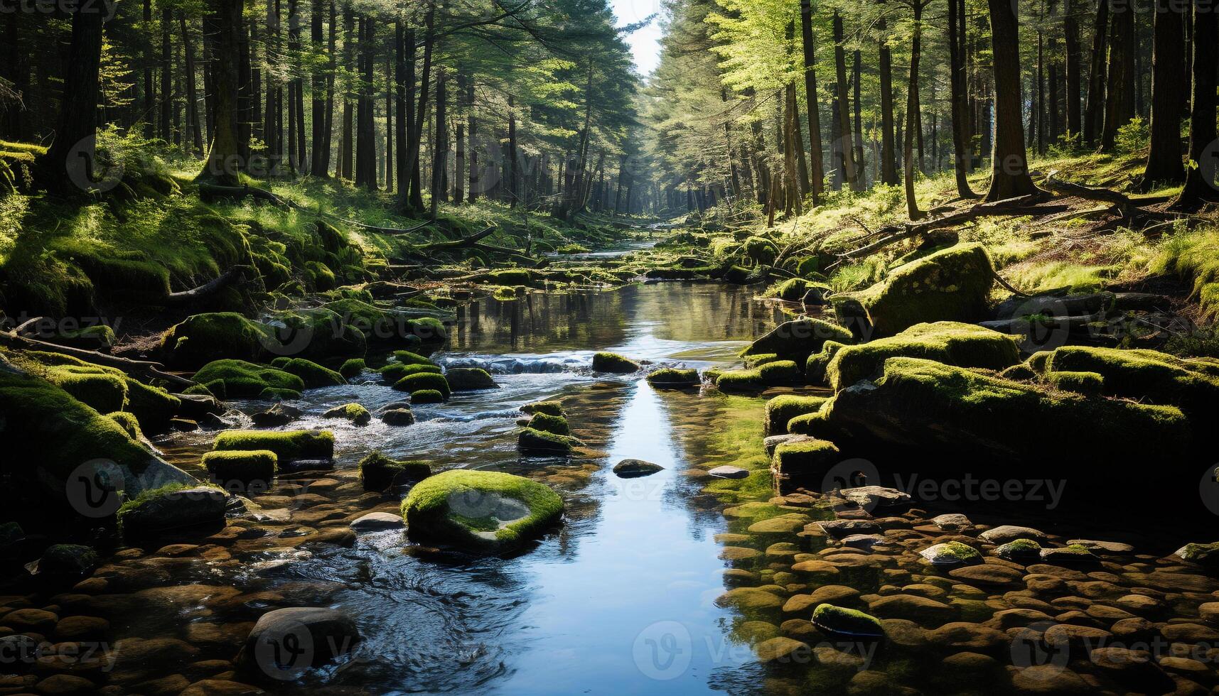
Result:
[[[416,555],[393,530],[363,535],[351,549],[251,551],[223,580],[245,591],[333,584],[328,603],[354,614],[364,640],[341,667],[306,678],[305,690],[324,683],[385,694],[644,694],[733,680],[752,656],[734,642],[730,612],[714,603],[724,590],[714,535],[727,523],[705,510],[713,501],[700,500],[701,472],[758,447],[761,401],[656,391],[638,378],[596,377],[590,364],[596,350],[670,366],[731,363],[745,341],[780,318],[751,297],[745,289],[663,283],[478,301],[434,357],[485,367],[501,389],[416,406],[418,423],[406,428],[321,418],[338,403],[358,401],[375,412],[402,397],[374,379],[306,392],[294,402],[305,417],[290,428],[333,429],[339,471],[349,477],[374,449],[429,461],[434,471],[541,473],[566,499],[566,523],[513,558]],[[591,455],[518,456],[519,406],[551,397],[563,399],[573,434]],[[197,468],[210,438],[182,434],[162,446]],[[619,479],[610,469],[623,458],[664,471]],[[344,485],[335,474],[319,486],[305,481],[305,490],[338,497],[335,480]]]

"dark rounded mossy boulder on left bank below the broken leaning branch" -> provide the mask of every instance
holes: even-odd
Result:
[[[280,347],[272,332],[258,322],[236,312],[215,312],[195,314],[171,327],[161,336],[160,352],[166,364],[193,369],[223,358],[257,362]]]

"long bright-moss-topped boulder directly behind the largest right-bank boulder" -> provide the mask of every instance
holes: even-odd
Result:
[[[958,367],[1000,371],[1020,362],[1020,351],[1012,336],[975,324],[915,324],[896,336],[842,346],[825,367],[825,375],[837,391],[879,375],[891,357],[924,357]]]

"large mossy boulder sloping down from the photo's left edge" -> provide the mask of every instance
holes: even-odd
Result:
[[[67,500],[73,472],[105,461],[95,472],[116,479],[117,488],[138,495],[147,486],[194,479],[143,447],[112,418],[72,397],[50,382],[21,372],[0,358],[0,436],[22,447],[18,460],[0,464],[15,480],[34,484],[54,500]],[[16,450],[15,450],[16,451]],[[18,466],[20,464],[20,466]],[[100,481],[105,485],[106,481]],[[113,496],[117,507],[118,496]],[[110,511],[113,512],[113,511]]]

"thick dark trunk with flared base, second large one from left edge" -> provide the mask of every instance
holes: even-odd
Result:
[[[213,43],[217,56],[235,56],[240,50],[241,5],[241,0],[210,0],[208,2],[216,27]],[[216,134],[212,138],[211,151],[207,154],[207,165],[199,178],[215,180],[222,185],[236,185],[240,152],[236,61],[216,60],[212,62],[212,69],[216,73]]]

